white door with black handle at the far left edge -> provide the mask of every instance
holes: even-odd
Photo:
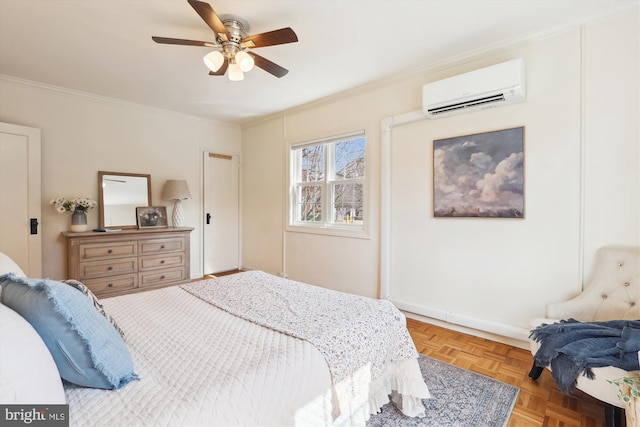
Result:
[[[40,129],[0,123],[0,252],[42,277]]]

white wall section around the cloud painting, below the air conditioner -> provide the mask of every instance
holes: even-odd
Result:
[[[526,328],[579,289],[580,34],[471,66],[513,58],[526,63],[525,103],[393,129],[390,296],[418,314]],[[519,126],[524,219],[434,218],[433,140]]]

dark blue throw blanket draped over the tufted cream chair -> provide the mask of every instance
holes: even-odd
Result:
[[[551,375],[565,393],[573,391],[579,374],[593,379],[592,368],[640,369],[639,320],[561,320],[538,326],[529,337],[540,343],[534,356],[536,366],[544,368],[551,365]]]

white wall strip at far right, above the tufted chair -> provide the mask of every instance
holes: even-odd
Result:
[[[584,254],[640,242],[640,28],[638,9],[584,33]]]

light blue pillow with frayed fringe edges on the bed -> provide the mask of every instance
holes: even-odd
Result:
[[[63,379],[102,389],[138,379],[122,337],[81,292],[13,273],[0,276],[0,286],[2,302],[38,331]]]

